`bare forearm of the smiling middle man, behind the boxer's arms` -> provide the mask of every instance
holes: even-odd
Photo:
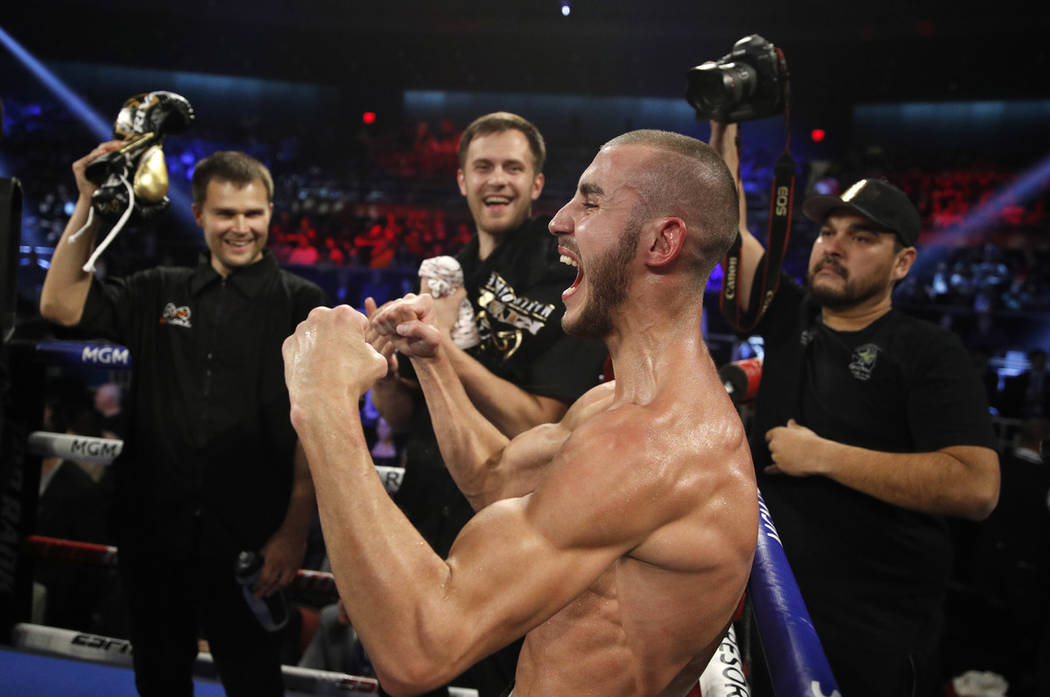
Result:
[[[469,354],[443,337],[441,348],[463,383],[467,397],[482,416],[507,438],[533,426],[552,423],[565,416],[568,404],[550,397],[533,395],[497,375]]]

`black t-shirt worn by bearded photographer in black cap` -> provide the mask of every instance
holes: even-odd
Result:
[[[929,649],[950,567],[945,521],[824,477],[765,474],[765,432],[789,419],[886,452],[995,447],[984,390],[958,338],[896,310],[858,332],[820,321],[786,276],[756,328],[765,341],[751,447],[761,489],[824,641]]]

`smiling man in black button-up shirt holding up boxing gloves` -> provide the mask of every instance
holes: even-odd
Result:
[[[197,639],[208,639],[229,695],[282,695],[279,633],[266,631],[234,579],[238,551],[259,552],[265,596],[295,576],[314,491],[289,422],[280,345],[323,292],[277,268],[265,249],[273,179],[240,152],[193,173],[193,214],[209,255],[99,281],[81,267],[96,230],[94,186],[74,164],[80,196],[56,246],[41,314],[128,346],[130,443],[117,464],[120,563],[135,684],[192,694]]]

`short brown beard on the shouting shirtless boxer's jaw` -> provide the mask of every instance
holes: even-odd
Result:
[[[642,223],[632,216],[624,226],[620,244],[587,265],[585,277],[590,286],[587,304],[576,321],[565,326],[566,332],[597,339],[612,333],[612,316],[627,298],[628,269],[640,234]]]

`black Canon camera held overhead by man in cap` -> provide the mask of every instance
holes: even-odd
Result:
[[[788,101],[788,61],[783,51],[752,34],[717,61],[689,71],[686,100],[697,119],[724,123],[764,119]]]

